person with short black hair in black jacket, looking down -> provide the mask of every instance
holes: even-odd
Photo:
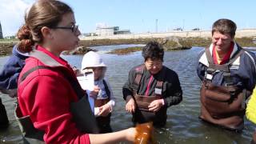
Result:
[[[130,70],[122,88],[126,110],[133,114],[134,124],[153,122],[166,125],[166,110],[182,101],[178,74],[162,65],[164,50],[158,42],[149,42],[142,49],[145,62]]]

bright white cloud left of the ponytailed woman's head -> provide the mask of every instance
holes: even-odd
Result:
[[[0,0],[0,22],[3,36],[15,35],[22,24],[32,0]]]

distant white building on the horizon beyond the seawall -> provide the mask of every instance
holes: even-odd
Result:
[[[114,34],[130,34],[130,30],[119,30],[119,26],[106,26],[106,24],[96,24],[96,35],[109,36]]]

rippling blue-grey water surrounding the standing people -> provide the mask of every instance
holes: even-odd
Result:
[[[118,46],[115,46],[118,48]],[[103,50],[104,46],[94,47],[97,50]],[[111,46],[108,48],[112,49]],[[158,143],[250,143],[251,134],[254,131],[254,125],[246,120],[245,129],[241,134],[236,134],[227,130],[222,130],[202,123],[198,119],[200,111],[199,89],[200,80],[196,74],[196,64],[198,54],[203,50],[199,47],[193,47],[190,50],[177,50],[165,53],[164,65],[170,67],[178,73],[183,90],[183,101],[178,106],[171,106],[168,111],[166,127],[155,130],[154,139]],[[111,117],[111,126],[114,130],[122,130],[132,126],[131,115],[125,109],[125,102],[122,99],[122,85],[128,77],[129,70],[143,62],[141,52],[135,52],[128,55],[106,54],[104,50],[99,51],[102,54],[104,62],[108,66],[106,77],[109,79],[114,96],[117,98],[114,113]],[[0,58],[0,67],[8,57]],[[81,67],[82,56],[63,56],[71,65]],[[6,95],[1,94],[3,102],[7,106],[10,118],[10,128],[0,131],[0,138],[8,143],[21,142],[18,125],[14,122],[13,102]],[[0,143],[1,143],[0,142]]]

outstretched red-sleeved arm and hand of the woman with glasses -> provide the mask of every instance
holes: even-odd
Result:
[[[30,114],[34,127],[45,131],[46,143],[134,142],[135,128],[109,134],[82,134],[70,113],[71,89],[66,79],[51,75],[33,78],[19,91],[22,114]]]

